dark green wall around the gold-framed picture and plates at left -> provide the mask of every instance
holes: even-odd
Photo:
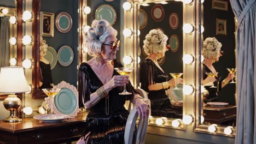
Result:
[[[75,87],[77,86],[78,5],[79,0],[41,0],[40,2],[40,11],[54,13],[55,18],[57,14],[64,11],[71,15],[73,20],[73,26],[69,32],[61,33],[56,29],[56,27],[54,27],[53,38],[43,37],[43,39],[46,40],[46,44],[48,44],[48,46],[54,47],[56,52],[63,45],[70,46],[74,52],[74,59],[71,65],[63,67],[59,62],[57,62],[55,68],[51,70],[53,82],[55,85],[61,81],[66,81]]]

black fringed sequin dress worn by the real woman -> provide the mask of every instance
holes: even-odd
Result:
[[[123,65],[113,60],[114,68]],[[103,73],[103,71],[102,71]],[[119,75],[114,70],[113,76]],[[112,76],[112,77],[113,77]],[[90,100],[90,94],[96,92],[103,83],[94,73],[88,63],[82,63],[78,74],[79,81],[79,107],[84,107],[84,103]],[[131,83],[126,86],[127,91],[135,92]],[[109,91],[109,99],[103,98],[89,109],[86,117],[85,131],[83,139],[88,143],[124,143],[124,130],[129,112],[125,109],[126,100],[130,100],[132,95],[119,95],[123,87],[116,87]],[[106,112],[109,111],[107,115]],[[89,136],[86,136],[86,134]]]

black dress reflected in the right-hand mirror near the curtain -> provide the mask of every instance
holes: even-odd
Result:
[[[206,79],[206,73],[212,72],[205,64],[203,64],[203,80]],[[216,102],[219,101],[218,92],[222,89],[222,82],[220,81],[220,76],[216,77],[216,81],[214,82],[214,86],[217,88],[210,88],[211,86],[205,86],[205,89],[209,92],[209,95],[206,99],[203,99],[203,102]]]

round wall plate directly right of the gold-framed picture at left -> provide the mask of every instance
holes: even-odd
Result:
[[[62,33],[69,32],[72,28],[72,23],[71,16],[66,12],[61,12],[56,16],[55,26]]]

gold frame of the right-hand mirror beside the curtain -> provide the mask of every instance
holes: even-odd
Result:
[[[197,1],[197,14],[196,16],[199,17],[197,19],[197,22],[199,23],[199,26],[201,26],[201,23],[203,23],[203,7],[202,7],[202,4],[201,4],[201,1]],[[199,32],[201,33],[201,27],[199,29]],[[196,46],[196,53],[199,53],[199,55],[196,55],[196,59],[201,59],[201,43],[202,43],[202,40],[201,40],[201,35],[198,34],[197,37],[196,37],[196,43],[197,43],[197,46]],[[195,122],[194,122],[194,128],[193,128],[193,131],[195,132],[199,132],[199,133],[206,133],[206,134],[212,134],[212,135],[223,135],[223,136],[228,136],[228,137],[235,137],[236,135],[236,128],[232,128],[232,133],[230,135],[226,135],[224,133],[224,129],[226,127],[221,127],[221,126],[217,126],[216,127],[216,131],[214,133],[211,133],[210,131],[208,131],[208,127],[210,125],[203,125],[203,124],[200,124],[200,113],[202,113],[202,109],[201,107],[203,106],[203,103],[202,103],[202,97],[201,97],[201,61],[198,61],[197,62],[197,66],[196,66],[196,82],[197,85],[196,85],[196,88],[199,89],[199,91],[196,93],[193,101],[194,101],[194,115],[195,115]]]

